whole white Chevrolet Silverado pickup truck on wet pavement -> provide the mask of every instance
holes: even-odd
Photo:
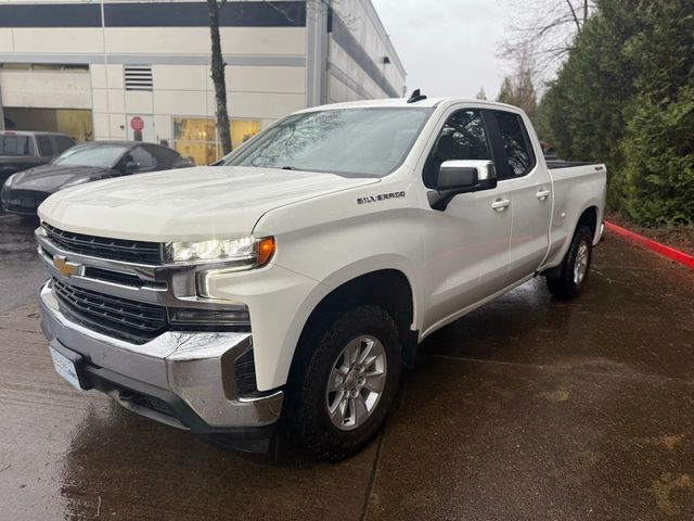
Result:
[[[77,389],[252,449],[288,425],[336,460],[383,425],[434,331],[538,275],[557,297],[584,289],[605,174],[548,168],[499,103],[300,111],[221,166],[50,196],[42,329]]]

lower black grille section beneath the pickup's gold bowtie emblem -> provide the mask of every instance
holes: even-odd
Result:
[[[91,329],[143,344],[167,328],[166,308],[85,290],[53,279],[53,294],[61,310]]]

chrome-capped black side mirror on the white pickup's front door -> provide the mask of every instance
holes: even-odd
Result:
[[[445,161],[438,170],[437,188],[427,193],[429,205],[444,211],[460,193],[497,188],[497,170],[488,160]]]

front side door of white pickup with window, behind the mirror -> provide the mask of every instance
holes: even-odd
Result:
[[[449,160],[492,161],[481,110],[461,107],[447,114],[423,167],[428,189],[436,189],[438,167]],[[427,208],[425,331],[503,289],[511,237],[509,198],[500,183],[492,190],[461,193],[445,211]]]

